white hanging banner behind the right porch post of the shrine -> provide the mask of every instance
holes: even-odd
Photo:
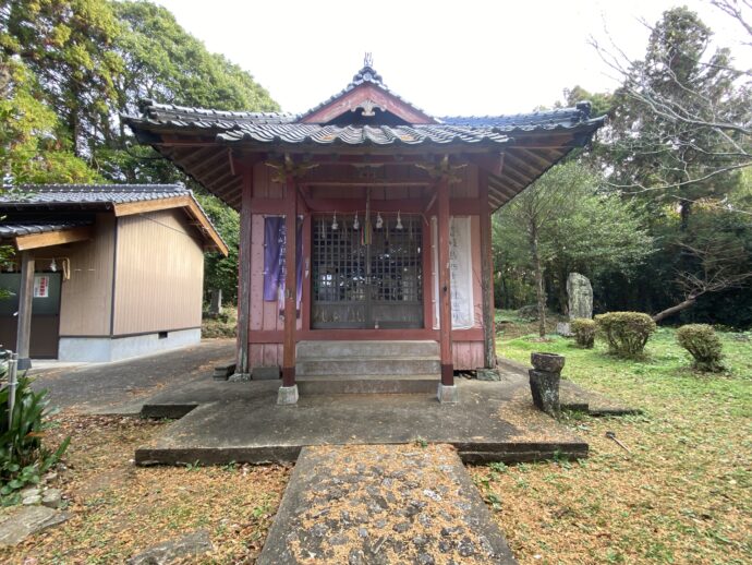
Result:
[[[475,324],[473,304],[473,264],[470,217],[449,218],[449,275],[451,286],[451,327],[468,329]],[[434,255],[434,328],[439,323],[438,285],[438,223],[430,218],[430,236]]]

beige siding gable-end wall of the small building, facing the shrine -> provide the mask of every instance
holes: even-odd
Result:
[[[118,219],[114,335],[201,326],[204,253],[182,209]]]

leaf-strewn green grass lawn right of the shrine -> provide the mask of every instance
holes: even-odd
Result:
[[[505,340],[530,326],[501,315],[511,332],[499,336],[499,354],[529,364],[532,351],[561,353],[566,378],[644,410],[566,414],[591,445],[586,460],[475,469],[501,501],[497,519],[521,562],[752,562],[750,333],[720,334],[727,371],[705,375],[670,328],[651,338],[645,360],[627,361],[598,341],[585,350],[558,336]]]

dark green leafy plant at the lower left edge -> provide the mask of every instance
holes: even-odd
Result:
[[[0,389],[0,495],[14,504],[19,491],[28,483],[38,483],[41,476],[58,462],[68,449],[70,437],[52,452],[43,444],[49,428],[47,390],[34,392],[31,378],[22,376],[15,389],[13,418],[9,422],[8,386]]]

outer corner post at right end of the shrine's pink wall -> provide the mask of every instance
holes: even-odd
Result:
[[[485,369],[496,368],[496,327],[494,321],[494,251],[492,241],[488,173],[480,171],[481,196],[481,292],[483,293],[483,362]]]

